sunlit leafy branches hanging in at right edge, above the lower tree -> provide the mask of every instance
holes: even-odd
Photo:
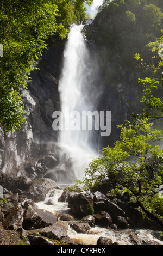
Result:
[[[142,114],[133,113],[133,117],[148,118],[152,121],[163,120],[163,101],[160,97],[163,85],[162,42],[163,38],[161,37],[147,45],[153,53],[152,61],[149,64],[143,62],[139,53],[134,55],[134,58],[139,62],[137,67],[145,70],[148,76],[138,78],[137,83],[143,86],[144,95],[141,102],[145,107],[142,109]]]

